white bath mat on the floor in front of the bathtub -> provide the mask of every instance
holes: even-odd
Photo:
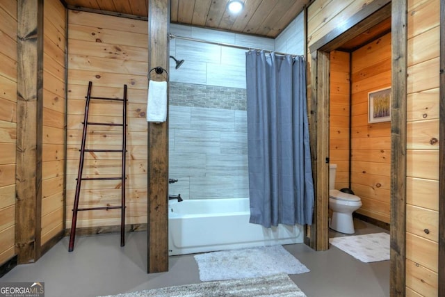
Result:
[[[297,274],[309,272],[282,246],[261,246],[223,250],[195,255],[200,280],[233,280],[258,278],[277,273]]]

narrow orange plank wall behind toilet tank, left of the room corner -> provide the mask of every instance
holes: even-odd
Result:
[[[349,188],[350,54],[330,53],[329,160],[337,164],[334,188]]]

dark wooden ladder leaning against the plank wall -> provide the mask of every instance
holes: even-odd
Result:
[[[71,233],[70,233],[70,244],[68,246],[68,251],[72,252],[74,250],[74,238],[76,236],[76,222],[77,222],[77,212],[78,211],[87,211],[87,210],[95,210],[95,209],[121,209],[121,221],[120,221],[120,246],[125,245],[124,239],[124,231],[125,231],[125,161],[126,161],[126,152],[127,152],[127,85],[124,85],[124,97],[123,98],[105,98],[105,97],[92,97],[91,96],[91,87],[92,82],[88,83],[88,93],[86,95],[86,104],[85,104],[85,115],[83,116],[83,133],[82,133],[82,141],[81,141],[81,149],[80,149],[80,161],[79,161],[79,172],[77,174],[77,183],[76,183],[76,192],[74,194],[74,207],[72,209],[72,224],[71,224]],[[97,100],[108,100],[108,101],[120,101],[122,102],[122,124],[115,123],[105,123],[105,122],[88,122],[88,111],[90,108],[90,102],[92,99]],[[122,150],[90,150],[86,149],[86,136],[87,136],[87,128],[88,125],[98,125],[98,126],[118,126],[122,127]],[[116,152],[122,153],[122,174],[120,177],[82,177],[83,172],[83,161],[85,161],[85,153],[86,152]],[[106,206],[106,207],[86,207],[79,209],[79,196],[81,193],[81,184],[82,181],[88,180],[120,180],[121,181],[121,204],[120,206]]]

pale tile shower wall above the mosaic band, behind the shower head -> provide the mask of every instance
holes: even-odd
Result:
[[[275,40],[238,33],[202,29],[178,24],[170,25],[173,35],[240,45],[273,51]],[[208,86],[245,88],[245,49],[236,49],[204,42],[170,40],[170,55],[185,60],[179,69],[170,60],[170,81]]]

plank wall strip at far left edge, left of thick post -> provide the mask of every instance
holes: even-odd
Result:
[[[15,255],[17,1],[0,1],[0,266]]]

